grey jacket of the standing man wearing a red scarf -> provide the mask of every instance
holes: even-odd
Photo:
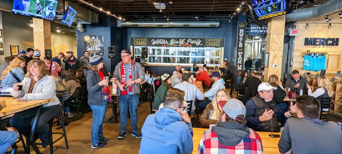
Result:
[[[121,77],[120,77],[121,64],[122,64],[122,61],[120,61],[115,66],[115,71],[113,73],[113,77],[115,77],[117,80],[119,80],[120,83],[121,83]],[[127,72],[127,74],[128,74],[128,72]],[[132,64],[132,80],[136,80],[136,79],[141,79],[141,81],[144,81],[145,80],[145,73],[144,73],[143,67],[141,67],[141,65],[139,63],[133,61],[133,64]],[[116,93],[120,96],[121,90],[120,90],[119,86],[117,88]],[[140,93],[140,84],[139,83],[133,84],[133,88],[132,88],[132,94],[137,94],[137,93]]]

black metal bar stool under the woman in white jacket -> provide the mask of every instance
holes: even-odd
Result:
[[[81,87],[82,88],[82,87]],[[62,106],[64,104],[64,98],[65,98],[65,93],[66,93],[66,90],[63,90],[63,91],[56,91],[56,96],[57,98],[60,100]],[[61,109],[61,114],[59,114],[58,116],[56,116],[55,118],[52,118],[50,121],[49,121],[49,136],[50,136],[50,154],[53,154],[53,144],[56,143],[57,141],[59,141],[60,139],[62,139],[64,137],[64,140],[65,140],[65,146],[66,146],[66,149],[69,149],[69,144],[68,144],[68,139],[66,137],[66,132],[65,132],[65,125],[64,125],[64,116],[63,116],[63,108]],[[52,125],[54,123],[57,123],[61,121],[61,124],[62,124],[62,129],[63,129],[63,133],[59,133],[59,132],[54,132],[52,133]],[[56,140],[53,140],[52,138],[52,135],[53,134],[60,134],[62,135],[61,137],[57,138]],[[37,143],[37,145],[42,145],[42,143]]]

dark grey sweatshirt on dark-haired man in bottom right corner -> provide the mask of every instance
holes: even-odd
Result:
[[[342,131],[337,123],[317,118],[289,118],[278,143],[280,153],[342,153]]]

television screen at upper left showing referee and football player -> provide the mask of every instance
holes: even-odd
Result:
[[[13,14],[55,21],[57,0],[14,0]]]

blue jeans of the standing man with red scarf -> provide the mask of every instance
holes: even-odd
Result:
[[[131,115],[132,132],[136,131],[138,127],[138,111],[139,93],[133,95],[120,95],[119,96],[119,109],[120,109],[120,131],[126,132],[127,125],[127,109]]]

